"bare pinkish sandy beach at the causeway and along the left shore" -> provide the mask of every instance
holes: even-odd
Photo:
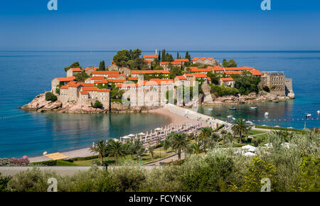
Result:
[[[181,116],[178,114],[174,114],[173,112],[170,112],[169,109],[166,108],[159,108],[159,109],[153,109],[149,112],[154,114],[160,114],[168,117],[171,120],[171,124],[179,125],[179,124],[202,124],[203,126],[209,126],[206,121],[197,121],[197,119],[190,119],[186,116]],[[152,128],[154,129],[154,128]],[[128,131],[128,134],[130,131]],[[58,152],[58,151],[57,151]],[[92,153],[90,151],[90,148],[81,148],[78,150],[73,151],[67,151],[67,152],[61,152],[63,155],[68,156],[69,158],[75,158],[75,157],[86,157],[86,156],[95,156],[97,153]],[[47,158],[46,156],[36,156],[29,158],[29,161],[31,163],[33,162],[40,162],[40,161],[50,161],[50,158]]]

